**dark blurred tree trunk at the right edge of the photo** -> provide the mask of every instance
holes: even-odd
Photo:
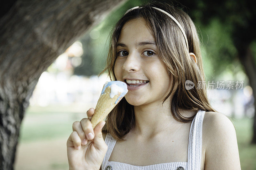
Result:
[[[254,117],[253,117],[253,125],[252,125],[252,144],[256,144],[256,66],[255,66],[255,58],[252,54],[252,50],[248,46],[244,46],[239,49],[238,55],[239,60],[244,65],[244,70],[246,75],[249,78],[250,85],[252,87],[252,95],[254,97]]]

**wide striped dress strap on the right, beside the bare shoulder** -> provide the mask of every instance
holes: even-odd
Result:
[[[188,139],[188,169],[198,170],[201,167],[202,157],[202,129],[204,110],[199,110],[194,117],[189,130]]]

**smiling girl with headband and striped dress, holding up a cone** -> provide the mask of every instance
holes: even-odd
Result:
[[[185,12],[163,3],[128,10],[113,29],[106,70],[129,91],[95,129],[93,108],[73,123],[69,169],[241,169],[232,122],[198,88],[199,39]]]

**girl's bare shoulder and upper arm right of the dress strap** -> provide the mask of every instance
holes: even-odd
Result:
[[[236,130],[228,117],[218,112],[205,112],[203,120],[205,170],[241,169]]]

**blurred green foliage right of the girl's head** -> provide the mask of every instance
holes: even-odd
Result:
[[[210,80],[224,70],[233,70],[232,66],[238,62],[230,29],[228,26],[224,27],[218,18],[212,19],[207,26],[201,26],[204,68],[206,77]]]

